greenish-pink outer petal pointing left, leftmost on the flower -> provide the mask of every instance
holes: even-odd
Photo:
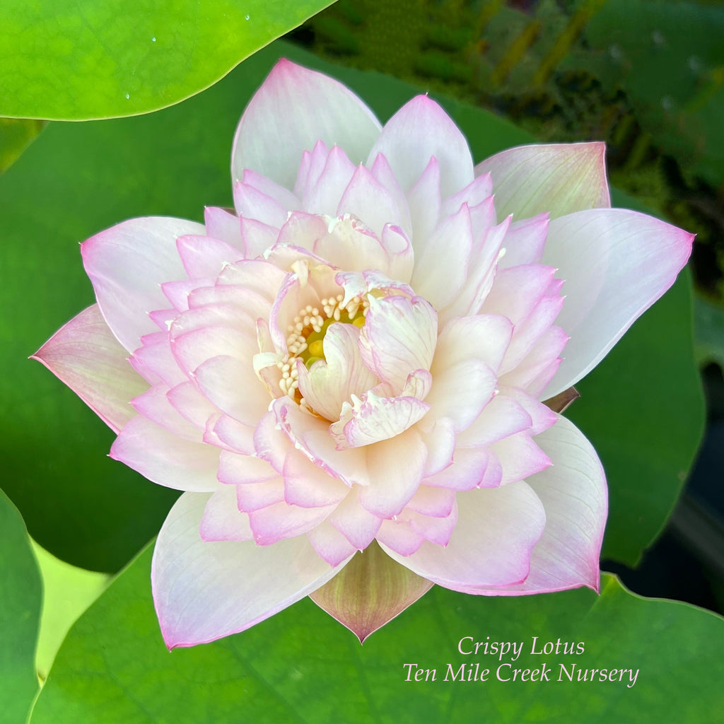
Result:
[[[127,358],[96,304],[73,317],[32,357],[67,384],[114,432],[134,416],[130,400],[148,389],[148,382]]]

